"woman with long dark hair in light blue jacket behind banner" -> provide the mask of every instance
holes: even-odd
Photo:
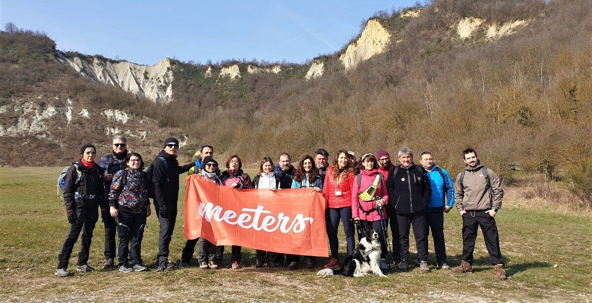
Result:
[[[314,191],[320,192],[323,190],[323,181],[324,179],[321,178],[313,157],[307,154],[300,160],[298,169],[294,173],[292,188],[312,188]],[[300,256],[287,254],[286,260],[288,262],[288,270],[294,270],[300,267]],[[315,263],[316,259],[314,257],[304,257],[304,267],[313,268]]]

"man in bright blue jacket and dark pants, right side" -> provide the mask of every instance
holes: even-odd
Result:
[[[436,267],[449,269],[446,265],[446,244],[444,242],[444,212],[449,212],[454,205],[454,185],[449,173],[442,167],[436,167],[430,152],[423,152],[420,160],[427,172],[432,186],[432,198],[426,208],[426,241],[432,230],[434,249],[436,250]]]

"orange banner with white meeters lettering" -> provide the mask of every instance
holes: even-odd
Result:
[[[187,177],[185,238],[327,257],[325,201],[310,188],[234,189]]]

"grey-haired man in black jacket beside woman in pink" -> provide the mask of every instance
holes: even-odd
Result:
[[[399,243],[401,246],[400,270],[409,268],[409,230],[417,246],[420,270],[430,272],[427,266],[426,207],[432,196],[432,187],[426,171],[413,163],[413,152],[403,147],[398,152],[400,165],[388,171],[388,203],[397,212]]]

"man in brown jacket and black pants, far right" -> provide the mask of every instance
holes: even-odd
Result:
[[[462,216],[462,260],[455,273],[472,272],[473,251],[477,240],[477,228],[481,227],[485,246],[489,252],[494,275],[506,280],[504,262],[501,259],[500,237],[496,217],[501,208],[504,190],[501,180],[493,170],[481,165],[477,151],[472,147],[462,151],[465,169],[454,182],[456,208]]]

